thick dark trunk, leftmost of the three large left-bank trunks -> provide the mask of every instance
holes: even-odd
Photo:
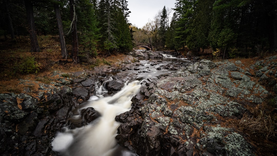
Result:
[[[33,4],[30,0],[24,0],[27,19],[29,24],[29,33],[31,39],[31,50],[30,52],[40,52],[39,42],[37,41],[37,32],[35,31],[35,19],[33,12]]]

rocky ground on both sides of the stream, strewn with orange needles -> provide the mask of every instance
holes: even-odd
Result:
[[[116,116],[122,122],[116,136],[120,145],[141,156],[257,155],[247,135],[227,121],[251,115],[249,109],[265,104],[268,97],[273,97],[276,108],[277,57],[245,68],[240,60],[177,60],[165,65],[154,59],[161,53],[165,52],[133,52],[117,68],[97,67],[70,73],[69,78],[53,72],[51,84],[20,80],[29,85],[24,93],[0,94],[0,155],[58,155],[51,141],[63,126],[74,129],[99,117],[87,108],[80,120],[71,119],[74,110],[96,94],[96,84],[112,77],[104,95],[112,96],[125,81],[150,72],[137,60],[142,58],[168,72],[146,78],[132,99],[132,109]],[[276,109],[268,111],[276,113]]]

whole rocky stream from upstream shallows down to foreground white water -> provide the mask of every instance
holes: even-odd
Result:
[[[122,78],[124,87],[112,96],[103,96],[108,92],[106,83],[96,83],[95,95],[81,105],[73,119],[80,119],[83,109],[92,107],[101,115],[86,126],[70,129],[64,127],[52,141],[53,150],[64,156],[132,156],[137,155],[117,144],[115,139],[117,128],[121,124],[115,121],[119,114],[127,112],[132,107],[131,99],[139,93],[143,81],[147,78],[157,79],[157,76],[176,72],[175,68],[193,64],[186,58],[176,58],[163,54],[163,58],[140,60],[140,66],[135,70],[127,70],[129,76]],[[122,71],[123,72],[123,71]],[[117,73],[122,74],[121,72]]]

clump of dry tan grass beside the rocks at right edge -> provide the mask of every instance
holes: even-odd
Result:
[[[260,135],[268,139],[276,139],[277,137],[277,123],[271,116],[266,116],[263,111],[260,111],[257,117],[244,114],[242,119],[237,120],[236,123],[239,129],[250,134]]]

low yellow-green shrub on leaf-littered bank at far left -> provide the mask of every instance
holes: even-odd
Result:
[[[16,69],[24,73],[38,73],[40,65],[35,61],[35,57],[26,57],[15,64]]]

